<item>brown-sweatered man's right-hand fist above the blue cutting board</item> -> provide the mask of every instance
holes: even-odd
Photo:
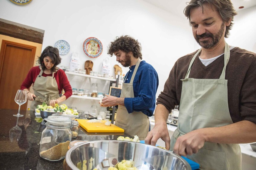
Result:
[[[197,153],[206,142],[206,137],[202,133],[203,131],[204,129],[197,129],[177,138],[173,148],[174,152],[180,156]]]

